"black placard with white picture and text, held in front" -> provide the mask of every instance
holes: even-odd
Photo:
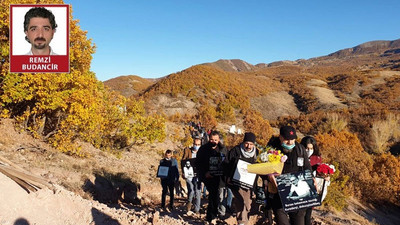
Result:
[[[276,182],[285,212],[321,205],[310,170],[282,174]]]

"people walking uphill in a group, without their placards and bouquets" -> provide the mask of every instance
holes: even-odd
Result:
[[[296,130],[291,126],[283,126],[280,128],[279,136],[272,137],[267,144],[287,156],[281,174],[305,170],[312,171],[313,167],[309,158],[311,156],[320,158],[320,152],[313,137],[306,136],[301,143],[298,143],[296,139]],[[179,179],[179,171],[177,160],[172,159],[169,153],[171,151],[167,150],[165,158],[160,162],[160,165],[165,165],[165,161],[168,161],[170,162],[169,165],[173,167],[169,171],[168,177],[161,179],[163,186],[161,207],[165,207],[165,196],[169,189],[170,208],[172,208],[173,188],[168,186],[168,182],[176,182]],[[187,210],[194,210],[194,213],[199,213],[203,183],[208,191],[206,222],[215,224],[218,219],[225,217],[227,210],[226,193],[229,191],[233,194],[232,210],[237,223],[248,224],[254,188],[238,185],[237,182],[232,180],[232,177],[239,160],[253,164],[256,163],[258,154],[256,135],[252,132],[245,133],[243,141],[230,150],[221,142],[221,135],[218,131],[212,131],[209,134],[208,142],[205,144],[201,143],[200,138],[194,138],[193,146],[184,150],[181,160],[182,176],[188,187]],[[266,221],[273,224],[274,215],[274,220],[278,225],[311,224],[312,208],[285,212],[278,195],[276,177],[279,175],[275,173],[259,176],[263,181],[267,198],[267,206],[264,207]],[[168,182],[165,180],[168,180]],[[256,187],[257,180],[258,178],[255,179],[253,187]],[[229,207],[229,209],[231,208]]]

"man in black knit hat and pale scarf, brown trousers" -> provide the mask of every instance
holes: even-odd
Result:
[[[237,163],[240,160],[253,164],[257,160],[258,150],[255,147],[256,136],[252,132],[244,134],[243,142],[232,148],[226,159],[227,161],[227,177],[234,198],[234,206],[237,211],[236,219],[239,225],[245,225],[249,221],[249,212],[251,208],[251,189],[244,188],[231,183],[230,178],[233,176]]]

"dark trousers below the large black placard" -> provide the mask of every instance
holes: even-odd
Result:
[[[305,209],[286,213],[283,210],[282,202],[278,194],[274,194],[273,198],[270,200],[277,225],[304,225]]]

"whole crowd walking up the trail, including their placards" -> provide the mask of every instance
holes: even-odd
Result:
[[[228,216],[234,216],[237,224],[247,225],[251,223],[249,214],[254,211],[261,215],[263,224],[312,224],[312,207],[289,210],[286,201],[315,195],[320,204],[326,196],[330,177],[329,174],[317,175],[322,160],[313,137],[306,136],[299,143],[296,141],[298,137],[293,127],[281,127],[279,136],[272,137],[267,144],[284,155],[281,172],[247,176],[240,172],[242,165],[258,163],[261,153],[254,133],[246,132],[243,141],[228,150],[218,131],[207,132],[200,123],[190,123],[189,126],[193,135],[193,145],[184,149],[180,165],[173,157],[172,150],[165,151],[164,158],[160,161],[157,176],[161,178],[162,185],[161,210],[175,210],[174,185],[182,176],[187,185],[187,215],[200,218],[201,214],[205,214],[205,224],[224,224]],[[238,174],[239,177],[242,176],[239,179]],[[305,179],[300,179],[308,174],[312,174],[308,183]],[[286,175],[290,175],[287,176],[290,178],[285,178],[286,182],[289,182],[290,190],[287,188],[289,194],[282,196],[280,182]],[[311,186],[313,187],[310,188]],[[206,191],[208,204],[206,210],[202,210],[201,198],[205,196]],[[254,207],[257,207],[257,210],[254,210]]]

